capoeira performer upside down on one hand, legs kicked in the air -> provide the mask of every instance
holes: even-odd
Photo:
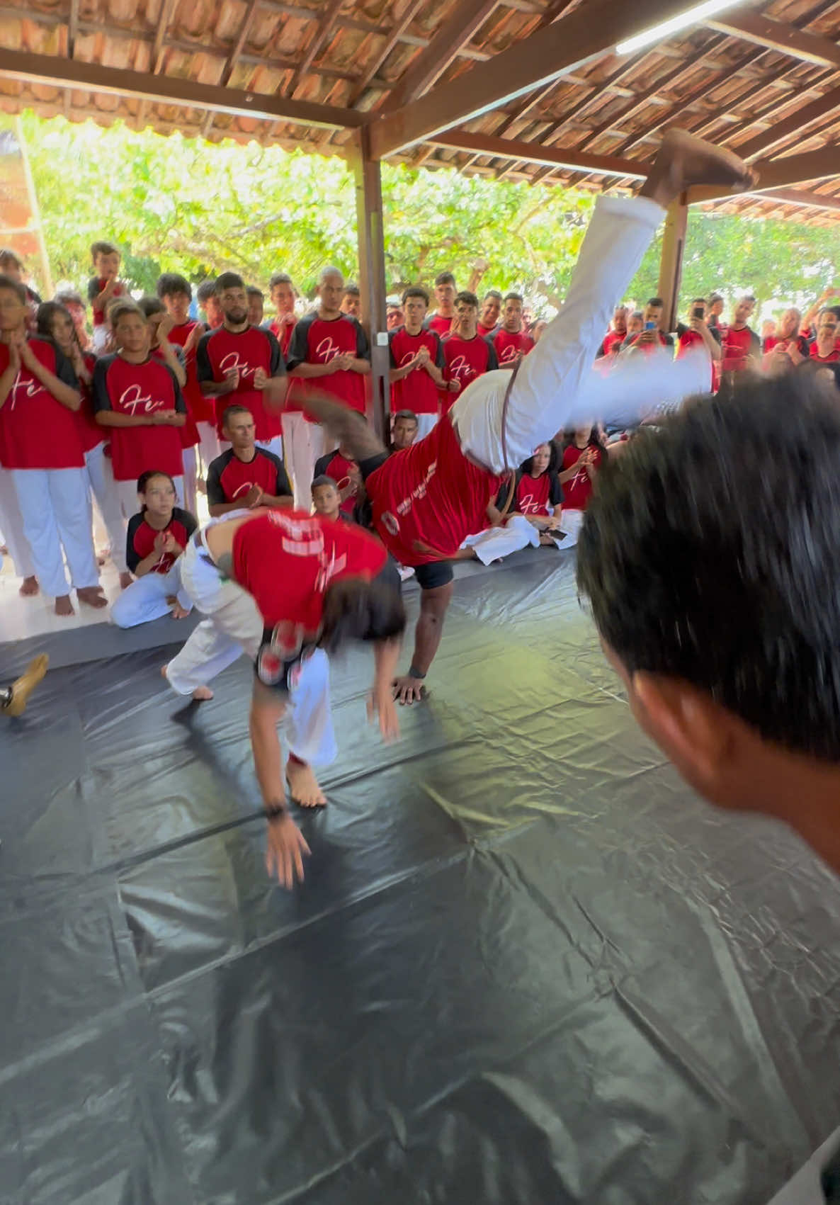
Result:
[[[753,174],[730,151],[680,130],[665,134],[651,174],[633,198],[601,196],[558,316],[510,371],[470,384],[423,440],[392,455],[359,417],[324,396],[306,408],[358,462],[374,527],[401,565],[416,570],[421,613],[409,671],[395,678],[400,703],[422,698],[453,590],[451,558],[488,525],[487,505],[534,449],[581,419],[632,421],[652,405],[707,388],[705,355],[674,362],[639,357],[609,376],[593,371],[616,301],[636,272],[665,207],[693,184],[742,192]],[[640,363],[642,362],[644,363]]]

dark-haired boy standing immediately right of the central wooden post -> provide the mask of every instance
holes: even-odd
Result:
[[[440,415],[444,380],[444,347],[440,335],[424,327],[429,294],[415,284],[403,294],[405,325],[388,331],[390,355],[390,405],[411,406],[418,418],[421,439],[428,435]]]

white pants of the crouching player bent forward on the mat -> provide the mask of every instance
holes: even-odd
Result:
[[[257,660],[263,619],[257,604],[235,582],[223,580],[205,549],[190,540],[181,558],[182,582],[207,618],[166,666],[166,680],[178,694],[192,694],[245,653]],[[322,648],[302,662],[289,692],[283,729],[289,750],[310,765],[329,765],[337,748],[329,699],[329,658]]]

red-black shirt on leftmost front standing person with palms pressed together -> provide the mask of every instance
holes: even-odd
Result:
[[[35,358],[59,381],[78,388],[72,364],[47,339],[30,339]],[[0,343],[0,372],[8,368],[8,345]],[[84,451],[78,419],[22,364],[0,407],[0,464],[5,469],[81,469]]]

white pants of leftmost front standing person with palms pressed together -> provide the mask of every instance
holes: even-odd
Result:
[[[64,557],[75,589],[99,586],[87,470],[12,469],[11,475],[43,593],[70,593]]]

